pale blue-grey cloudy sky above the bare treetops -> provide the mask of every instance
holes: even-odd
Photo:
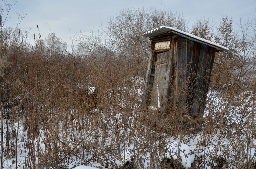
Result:
[[[12,1],[9,1],[11,4]],[[22,30],[32,28],[29,37],[33,40],[33,33],[38,34],[39,25],[41,38],[47,37],[51,31],[57,37],[70,45],[70,35],[77,31],[89,33],[105,28],[107,20],[118,14],[120,8],[126,7],[161,8],[165,7],[186,16],[193,25],[200,16],[209,17],[218,26],[222,16],[232,17],[234,22],[250,19],[255,13],[256,0],[161,0],[161,1],[82,1],[82,0],[20,0],[10,11],[11,19],[8,26],[14,27],[17,21],[16,13],[26,13],[20,24]],[[168,25],[166,25],[168,26]]]

